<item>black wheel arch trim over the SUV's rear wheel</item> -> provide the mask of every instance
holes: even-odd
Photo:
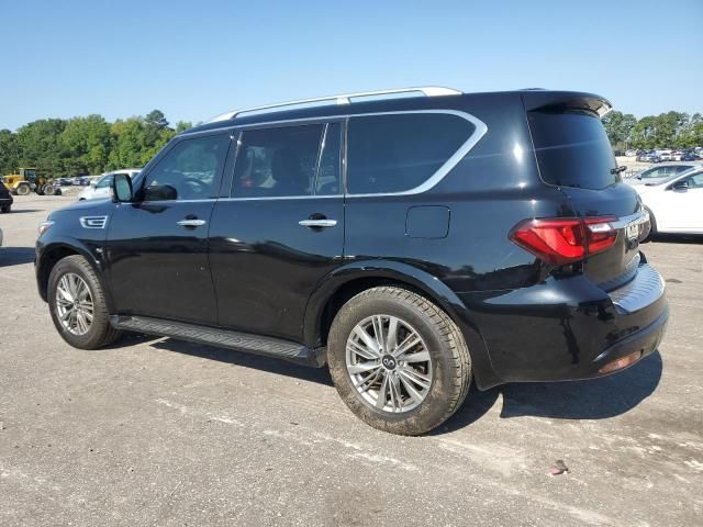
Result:
[[[337,311],[352,296],[379,285],[403,287],[434,302],[461,330],[469,348],[477,385],[484,390],[502,382],[493,371],[486,343],[461,300],[436,277],[403,262],[356,261],[327,274],[319,283],[305,309],[305,343],[315,348],[325,347]]]

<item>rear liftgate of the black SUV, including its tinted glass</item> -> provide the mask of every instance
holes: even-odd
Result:
[[[617,284],[639,254],[644,213],[636,191],[621,182],[613,149],[594,112],[551,106],[527,112],[542,179],[569,197],[576,216],[610,216],[615,244],[589,257],[584,273],[599,284]],[[565,211],[565,215],[569,215]]]

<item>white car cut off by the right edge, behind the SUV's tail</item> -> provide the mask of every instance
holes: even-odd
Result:
[[[635,190],[649,212],[651,234],[703,234],[703,168]]]

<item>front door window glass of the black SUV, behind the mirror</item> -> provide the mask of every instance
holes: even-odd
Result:
[[[179,142],[144,179],[144,201],[213,198],[230,146],[230,134]]]

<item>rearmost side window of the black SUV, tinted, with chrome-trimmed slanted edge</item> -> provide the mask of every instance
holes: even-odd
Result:
[[[347,139],[348,191],[367,194],[419,187],[472,132],[470,122],[445,113],[353,117]]]

